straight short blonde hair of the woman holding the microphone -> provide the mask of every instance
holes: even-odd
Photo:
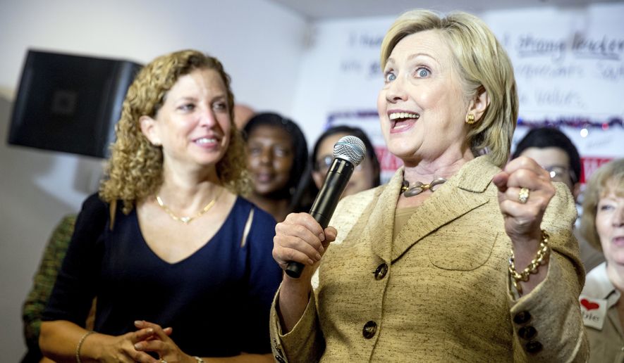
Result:
[[[490,99],[481,120],[467,134],[472,153],[487,153],[495,165],[507,163],[511,137],[518,120],[518,92],[511,61],[485,23],[463,12],[441,17],[426,10],[403,13],[381,43],[381,68],[401,39],[425,30],[437,30],[453,53],[466,100],[487,91]],[[468,102],[466,102],[468,104]]]

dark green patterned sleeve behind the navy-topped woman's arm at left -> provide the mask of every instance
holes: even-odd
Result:
[[[76,215],[67,215],[61,219],[50,236],[44,254],[35,274],[35,281],[22,307],[24,336],[29,349],[39,350],[39,329],[41,316],[48,298],[54,288],[56,275],[59,273],[63,257],[67,252],[73,234]]]

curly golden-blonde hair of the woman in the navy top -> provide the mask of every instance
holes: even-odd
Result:
[[[137,200],[154,195],[163,182],[163,155],[159,146],[152,145],[141,132],[139,117],[155,117],[166,93],[182,75],[193,70],[216,70],[227,89],[230,113],[230,144],[216,164],[221,184],[233,193],[246,195],[250,177],[245,165],[244,141],[234,126],[234,96],[230,77],[221,62],[194,50],[177,51],[160,56],[137,74],[123,101],[121,119],[115,126],[116,141],[111,145],[105,178],[99,196],[108,203],[123,200],[123,212],[132,210]]]

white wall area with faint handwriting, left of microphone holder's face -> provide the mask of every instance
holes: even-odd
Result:
[[[293,109],[310,147],[331,113],[377,109],[384,81],[379,46],[393,20],[328,20],[312,26]]]

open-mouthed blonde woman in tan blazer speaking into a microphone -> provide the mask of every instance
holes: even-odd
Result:
[[[333,227],[277,225],[275,260],[307,267],[274,300],[275,359],[585,361],[573,197],[531,159],[506,164],[518,95],[502,46],[472,15],[412,11],[381,67],[381,130],[405,166],[341,201]]]

